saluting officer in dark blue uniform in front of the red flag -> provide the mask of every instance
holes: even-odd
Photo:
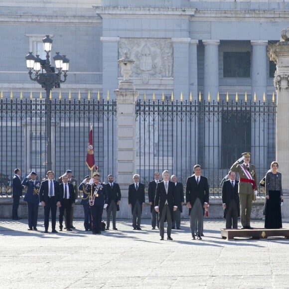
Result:
[[[92,216],[92,234],[101,234],[102,212],[108,206],[106,187],[99,180],[100,174],[95,171],[92,174],[92,179],[86,186],[86,192],[90,194],[89,205]]]

